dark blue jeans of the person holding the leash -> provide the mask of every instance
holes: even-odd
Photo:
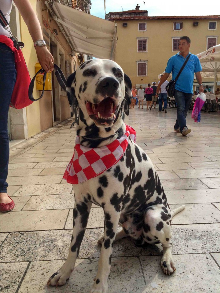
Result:
[[[0,43],[0,192],[7,193],[9,164],[8,112],[16,81],[14,53]]]

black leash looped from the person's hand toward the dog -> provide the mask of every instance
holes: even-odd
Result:
[[[62,70],[60,69],[60,67],[57,64],[54,63],[53,66],[54,66],[54,70],[55,70],[55,75],[57,77],[57,81],[59,82],[59,85],[61,86],[61,88],[66,92],[66,78],[65,78]],[[35,99],[33,97],[34,82],[35,82],[36,76],[39,73],[43,73],[43,91],[42,91],[41,96],[38,99]],[[38,101],[39,99],[42,98],[42,96],[44,95],[45,80],[46,80],[46,71],[43,68],[41,68],[35,74],[35,76],[32,78],[31,83],[29,85],[28,96],[31,101]]]

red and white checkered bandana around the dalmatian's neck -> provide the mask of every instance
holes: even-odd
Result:
[[[123,156],[127,149],[128,137],[136,142],[136,131],[126,125],[125,134],[104,147],[84,147],[76,137],[74,154],[66,168],[63,178],[71,184],[79,184],[94,178],[113,165]]]

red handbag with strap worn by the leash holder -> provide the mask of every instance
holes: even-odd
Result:
[[[0,23],[5,29],[10,32],[9,24],[1,10]],[[20,49],[20,47],[24,47],[24,43],[17,42],[13,36],[11,36],[11,38],[8,38],[5,35],[0,35],[0,42],[7,45],[14,52],[15,58],[15,69],[17,71],[17,75],[13,93],[11,96],[10,107],[13,107],[15,109],[22,109],[33,103],[33,101],[31,101],[28,97],[28,88],[31,82],[31,78],[24,60],[24,56]]]

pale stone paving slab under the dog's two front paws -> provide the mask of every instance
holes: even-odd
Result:
[[[98,269],[98,259],[78,259],[70,279],[64,287],[46,288],[48,278],[57,271],[64,261],[31,262],[18,293],[54,292],[89,293]],[[140,261],[137,257],[112,258],[108,277],[108,293],[142,292],[145,286]]]

